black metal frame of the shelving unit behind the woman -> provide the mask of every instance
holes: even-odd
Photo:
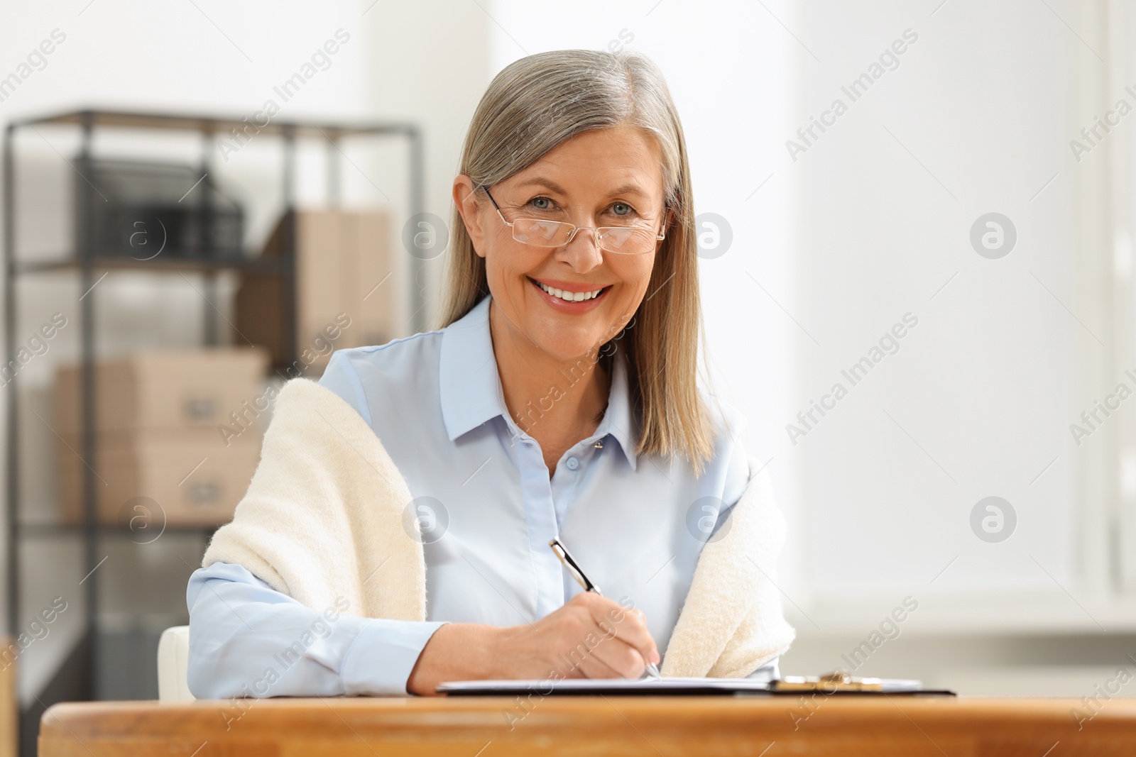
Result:
[[[34,128],[36,126],[69,126],[80,131],[81,146],[78,165],[83,165],[92,159],[94,148],[94,135],[99,129],[152,129],[160,132],[183,132],[197,133],[201,136],[201,159],[200,173],[202,178],[211,170],[211,153],[214,150],[212,137],[217,134],[226,134],[232,129],[245,128],[247,124],[241,118],[210,117],[190,113],[153,113],[132,112],[111,110],[78,110],[65,112],[42,118],[31,118],[17,120],[8,125],[5,133],[3,144],[3,255],[5,255],[5,335],[7,339],[7,359],[16,358],[17,344],[17,284],[24,276],[34,276],[44,272],[72,271],[80,277],[81,291],[87,293],[81,301],[81,397],[82,397],[82,436],[81,452],[83,459],[91,465],[83,469],[83,522],[80,524],[65,523],[22,523],[19,520],[19,474],[20,474],[20,447],[19,447],[19,423],[18,423],[18,385],[19,376],[12,378],[8,392],[7,404],[7,540],[8,540],[8,632],[15,636],[22,628],[19,616],[20,602],[20,546],[27,538],[53,538],[58,535],[82,535],[83,538],[83,563],[84,572],[93,571],[98,566],[99,540],[108,532],[116,531],[115,525],[101,524],[97,520],[95,501],[95,473],[93,466],[98,460],[98,437],[95,434],[95,358],[97,358],[97,335],[94,322],[94,300],[97,289],[92,287],[97,283],[97,271],[100,269],[142,270],[150,272],[194,271],[206,275],[207,292],[214,291],[212,285],[218,272],[224,270],[274,274],[286,279],[284,287],[284,334],[287,337],[286,344],[293,354],[295,351],[295,229],[286,227],[284,232],[284,245],[282,254],[277,259],[260,260],[249,259],[160,259],[141,261],[127,256],[110,256],[100,254],[95,249],[92,235],[84,234],[84,229],[92,228],[93,202],[95,188],[86,183],[80,183],[78,203],[76,207],[76,225],[80,230],[76,237],[77,249],[75,254],[59,260],[51,261],[22,261],[17,259],[16,251],[16,135],[20,129]],[[356,137],[395,137],[404,138],[408,143],[409,161],[409,196],[408,205],[410,215],[417,215],[424,208],[424,157],[423,137],[419,128],[408,123],[367,123],[367,124],[340,124],[340,123],[301,123],[289,120],[273,120],[267,126],[260,127],[260,132],[266,136],[277,137],[281,142],[281,160],[283,161],[283,209],[282,217],[289,218],[289,210],[295,207],[295,163],[296,163],[296,141],[311,138],[327,143],[326,166],[327,166],[327,193],[333,201],[337,201],[341,195],[341,171],[340,160],[342,151],[341,141]],[[78,169],[76,169],[78,170]],[[294,216],[291,216],[294,221]],[[207,225],[208,226],[208,225]],[[412,256],[411,281],[419,280],[424,261]],[[424,316],[421,293],[418,287],[411,285],[411,308],[414,316],[412,328],[421,330]],[[218,325],[216,314],[206,310],[204,335],[206,344],[218,343]],[[194,530],[194,529],[184,529]],[[211,528],[201,528],[197,531],[208,533]],[[184,591],[184,587],[178,587]],[[95,620],[100,609],[98,581],[86,581],[83,586],[85,597],[85,644],[90,644],[93,650],[93,639]],[[81,642],[81,644],[83,644]],[[85,696],[77,698],[93,698],[97,691],[97,665],[93,651],[87,655],[78,655],[84,658],[85,672],[82,680],[89,687]],[[50,698],[50,696],[49,696]],[[44,707],[53,704],[42,701]],[[33,710],[41,708],[34,707]],[[42,710],[41,710],[42,712]],[[25,712],[22,720],[27,727],[31,721],[28,715],[35,713]],[[23,734],[22,743],[28,743]],[[34,733],[31,734],[31,743],[34,747]],[[34,752],[33,752],[34,754]]]

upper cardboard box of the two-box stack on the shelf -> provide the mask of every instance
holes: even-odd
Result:
[[[212,429],[231,422],[264,393],[268,352],[262,347],[148,350],[95,367],[95,428]],[[80,432],[82,370],[56,375],[55,430]]]

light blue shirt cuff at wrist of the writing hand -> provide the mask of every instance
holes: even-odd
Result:
[[[408,622],[370,619],[343,658],[345,696],[407,696],[407,680],[434,631],[448,621]]]

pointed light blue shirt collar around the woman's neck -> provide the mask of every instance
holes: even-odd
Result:
[[[468,313],[442,329],[438,387],[442,419],[451,441],[498,415],[503,417],[510,427],[516,426],[506,409],[501,377],[493,356],[491,300],[490,296],[483,297]],[[612,365],[608,409],[593,438],[615,437],[632,470],[635,470],[634,419],[623,351],[617,351]]]

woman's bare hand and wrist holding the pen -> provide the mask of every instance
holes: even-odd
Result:
[[[535,623],[443,625],[423,648],[407,691],[428,695],[443,681],[479,679],[634,679],[658,662],[642,611],[582,592]]]

